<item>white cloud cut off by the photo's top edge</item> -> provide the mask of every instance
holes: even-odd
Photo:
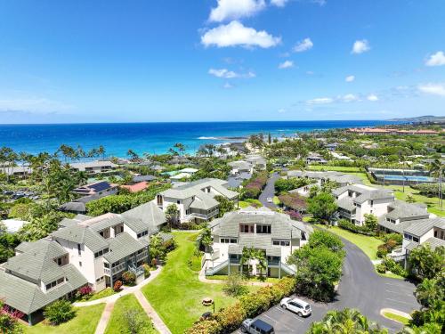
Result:
[[[237,20],[255,15],[266,7],[264,0],[218,0],[212,8],[208,20],[223,22],[224,20]]]

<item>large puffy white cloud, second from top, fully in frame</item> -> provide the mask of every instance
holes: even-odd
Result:
[[[202,37],[201,43],[205,46],[216,45],[218,47],[227,46],[260,46],[269,48],[279,45],[281,37],[273,37],[266,31],[257,31],[242,25],[237,20],[231,21],[227,25],[221,25],[208,30]]]

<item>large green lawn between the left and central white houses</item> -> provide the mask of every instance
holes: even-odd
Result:
[[[201,305],[204,297],[214,299],[216,310],[235,302],[235,298],[223,293],[223,284],[198,281],[198,273],[187,264],[195,251],[190,232],[174,232],[178,247],[168,254],[166,266],[158,277],[142,288],[150,304],[158,312],[168,328],[183,333],[209,307]],[[257,289],[249,287],[249,289]]]

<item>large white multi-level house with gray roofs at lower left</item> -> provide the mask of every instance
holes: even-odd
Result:
[[[149,236],[166,223],[153,203],[122,215],[65,218],[59,230],[35,242],[22,242],[15,257],[0,265],[0,297],[34,324],[44,306],[73,297],[88,285],[95,291],[113,287],[122,273],[143,279],[149,262]]]

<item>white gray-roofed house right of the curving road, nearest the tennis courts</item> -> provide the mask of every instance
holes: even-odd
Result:
[[[391,190],[372,188],[363,184],[346,185],[332,191],[338,205],[340,218],[362,225],[365,215],[380,217],[387,213],[388,205],[394,201]]]

